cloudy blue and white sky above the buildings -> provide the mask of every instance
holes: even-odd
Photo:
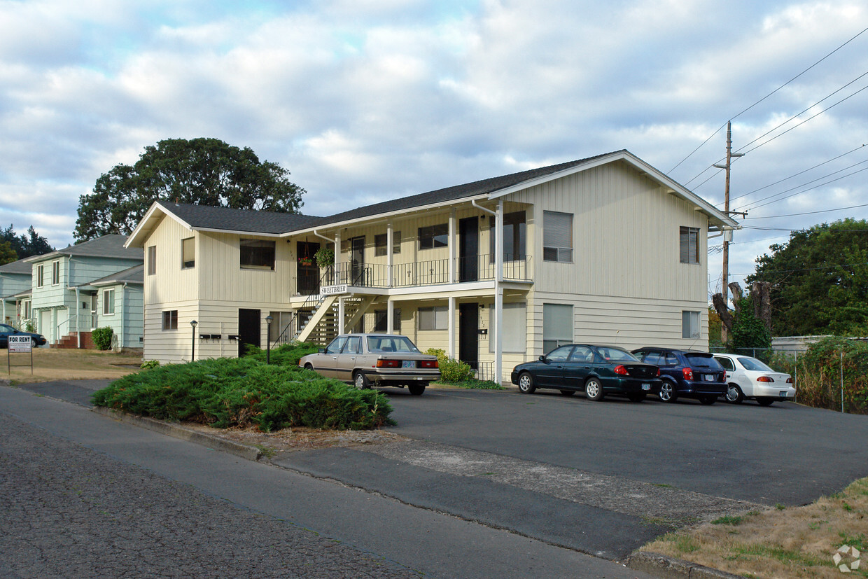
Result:
[[[65,247],[100,174],[199,136],[306,214],[621,148],[722,207],[732,119],[739,279],[868,218],[866,28],[865,0],[0,0],[0,224]]]

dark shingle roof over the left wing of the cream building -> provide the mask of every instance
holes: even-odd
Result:
[[[203,229],[223,229],[228,231],[249,231],[259,234],[284,234],[293,229],[303,229],[320,219],[312,215],[274,213],[273,211],[253,211],[231,209],[229,207],[209,207],[160,201],[178,219],[190,227]],[[141,250],[140,250],[141,251]]]

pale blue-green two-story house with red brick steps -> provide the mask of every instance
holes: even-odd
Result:
[[[24,260],[31,267],[30,307],[36,332],[43,334],[50,345],[88,347],[90,332],[99,327],[96,324],[101,318],[109,319],[99,315],[102,309],[108,307],[106,311],[115,312],[109,316],[117,316],[117,299],[123,299],[124,294],[116,293],[118,284],[112,284],[109,278],[144,263],[141,248],[123,247],[126,240],[126,235],[104,235]],[[103,292],[102,285],[91,285],[95,281],[107,282],[109,289],[115,287],[115,293]],[[130,280],[127,283],[131,285]],[[101,299],[109,295],[115,299],[114,309],[102,304]],[[121,332],[124,343],[132,341],[134,347],[141,347],[141,299],[139,303],[138,313],[123,313],[125,319],[137,319],[137,329],[125,328]],[[133,337],[131,330],[138,334]]]

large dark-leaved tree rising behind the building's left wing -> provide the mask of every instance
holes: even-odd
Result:
[[[289,171],[260,161],[251,148],[219,139],[166,139],[145,148],[135,165],[115,165],[82,195],[76,240],[129,234],[154,201],[298,213],[305,190]]]

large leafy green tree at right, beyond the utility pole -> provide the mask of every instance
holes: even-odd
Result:
[[[747,280],[771,282],[773,335],[868,335],[868,222],[822,223],[770,249]]]

